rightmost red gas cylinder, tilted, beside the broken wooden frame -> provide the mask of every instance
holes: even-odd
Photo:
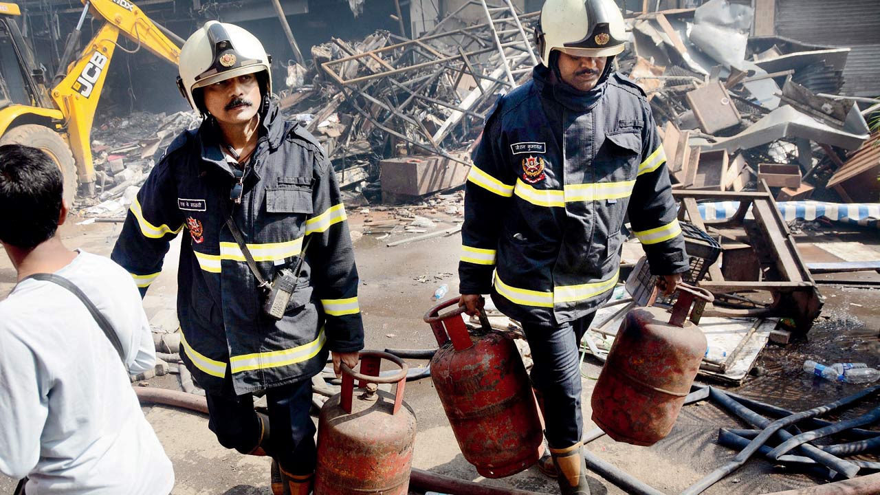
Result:
[[[663,308],[635,308],[614,338],[591,399],[593,421],[614,440],[642,446],[662,440],[697,376],[706,336],[696,323],[714,298],[698,287],[679,290],[671,317]],[[701,300],[686,321],[694,297]]]

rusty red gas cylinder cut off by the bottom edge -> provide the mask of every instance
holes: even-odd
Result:
[[[400,373],[380,377],[381,359]],[[341,370],[342,391],[327,400],[318,421],[314,494],[407,495],[415,443],[415,413],[403,402],[407,365],[385,352],[361,351],[360,373],[345,364]],[[395,394],[378,390],[379,383],[396,383]]]

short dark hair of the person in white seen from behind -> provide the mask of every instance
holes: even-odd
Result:
[[[63,188],[48,154],[23,144],[0,146],[0,240],[31,249],[55,235]]]

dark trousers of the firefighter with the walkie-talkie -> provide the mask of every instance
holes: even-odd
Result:
[[[251,394],[231,399],[224,395],[207,395],[208,427],[220,445],[247,454],[260,441],[260,419],[253,410]],[[293,475],[311,474],[315,470],[315,425],[312,409],[312,380],[269,388],[266,391],[270,434],[264,442],[266,453]]]

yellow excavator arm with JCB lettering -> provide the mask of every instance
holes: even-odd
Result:
[[[92,122],[120,33],[136,43],[136,49],[147,48],[175,66],[180,61],[180,47],[169,38],[173,34],[166,35],[164,29],[128,0],[82,1],[84,11],[77,32],[82,27],[86,11],[106,22],[78,58],[70,63],[67,74],[52,88],[51,96],[65,118],[64,126],[67,128],[70,151],[77,163],[79,182],[93,185]]]

